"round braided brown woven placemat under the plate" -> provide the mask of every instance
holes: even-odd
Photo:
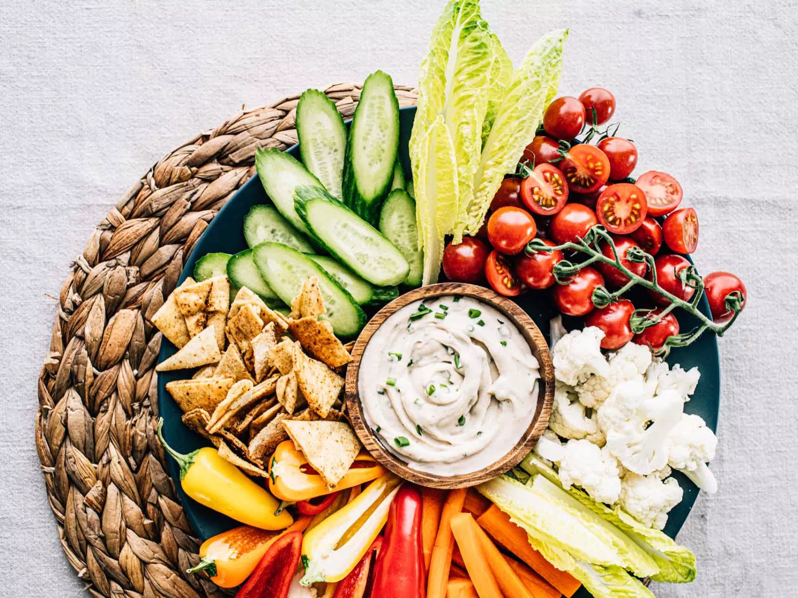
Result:
[[[416,92],[397,86],[400,106]],[[352,116],[360,86],[325,90]],[[297,142],[299,96],[242,110],[164,156],[105,216],[72,264],[39,376],[36,447],[69,564],[93,596],[222,596],[156,439],[149,318],[175,288],[197,239],[255,175],[255,148]]]

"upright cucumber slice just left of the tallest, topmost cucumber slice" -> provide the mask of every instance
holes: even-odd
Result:
[[[318,89],[299,97],[296,116],[302,163],[330,195],[342,199],[346,126],[335,104]]]

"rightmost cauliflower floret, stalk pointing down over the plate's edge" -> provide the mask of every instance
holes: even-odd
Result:
[[[706,466],[715,458],[717,436],[698,415],[681,415],[681,422],[668,435],[668,464],[681,471],[693,483],[709,492],[717,492],[717,480]]]

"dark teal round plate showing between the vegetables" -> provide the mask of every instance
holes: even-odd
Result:
[[[415,114],[416,108],[413,107],[401,108],[399,115],[401,125],[399,152],[405,172],[410,171],[407,148]],[[294,145],[293,148],[288,150],[288,153],[299,159],[298,146]],[[269,199],[266,192],[263,191],[263,186],[260,184],[258,177],[253,176],[219,210],[219,214],[216,214],[216,217],[211,221],[211,225],[207,227],[205,233],[199,238],[191,257],[186,263],[186,267],[180,274],[180,282],[192,275],[196,260],[205,254],[217,251],[235,254],[238,251],[247,249],[247,243],[244,241],[242,231],[243,217],[252,206],[259,203],[269,203]],[[547,293],[545,291],[527,293],[517,297],[516,302],[531,316],[535,324],[547,334],[549,320],[557,315]],[[709,304],[706,301],[706,297],[701,298],[700,308],[702,313],[709,315]],[[566,322],[567,327],[570,329],[571,326],[569,324],[570,322]],[[679,325],[681,330],[689,330],[697,325],[697,321],[691,316],[681,314]],[[164,339],[161,343],[159,362],[172,356],[175,352],[176,347]],[[701,415],[706,420],[707,425],[715,430],[721,391],[720,365],[718,364],[717,340],[715,336],[706,333],[689,347],[675,349],[671,352],[668,361],[671,364],[681,364],[685,369],[697,366],[701,371],[701,381],[698,383],[693,399],[685,405],[685,411]],[[164,372],[158,375],[158,409],[160,415],[164,418],[164,437],[173,448],[183,453],[188,453],[208,444],[207,440],[203,439],[202,436],[183,425],[180,420],[182,415],[180,408],[177,407],[172,396],[169,395],[165,388],[165,384],[170,380],[180,380],[186,377],[186,372]],[[200,505],[192,498],[188,498],[180,488],[180,474],[175,461],[172,458],[168,458],[168,462],[169,474],[172,475],[177,487],[180,502],[183,505],[188,521],[192,524],[199,537],[204,540],[235,525],[239,525],[228,517],[224,517]],[[693,502],[695,502],[698,494],[693,482],[690,482],[678,472],[674,476],[678,478],[681,487],[685,490],[685,496],[681,503],[670,512],[668,517],[668,525],[665,532],[671,537],[674,537],[681,529],[681,525],[684,524],[687,513],[693,507]]]

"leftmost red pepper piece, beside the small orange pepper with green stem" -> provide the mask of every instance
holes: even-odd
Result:
[[[297,530],[279,537],[235,598],[287,598],[301,555],[302,532]]]

